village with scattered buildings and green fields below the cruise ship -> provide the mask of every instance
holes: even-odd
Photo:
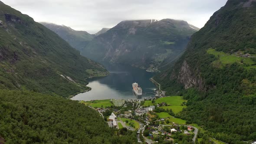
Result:
[[[179,143],[183,139],[193,143],[197,138],[198,129],[194,125],[174,117],[182,108],[186,108],[186,101],[181,96],[83,103],[98,111],[109,127],[137,132],[138,142],[141,143]]]

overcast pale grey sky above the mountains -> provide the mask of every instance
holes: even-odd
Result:
[[[185,20],[202,28],[227,0],[2,0],[36,22],[97,33],[122,20]]]

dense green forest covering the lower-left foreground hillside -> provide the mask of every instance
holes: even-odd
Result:
[[[58,96],[0,91],[0,135],[6,144],[134,144],[136,134],[117,136],[97,111]]]

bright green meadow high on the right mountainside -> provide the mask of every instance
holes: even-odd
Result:
[[[213,54],[218,58],[213,62],[213,65],[219,68],[223,67],[223,65],[232,64],[234,62],[240,63],[241,65],[249,68],[256,68],[256,65],[253,65],[256,62],[253,62],[253,59],[250,57],[238,57],[235,54],[230,55],[225,52],[218,52],[215,49],[208,49],[207,53]]]

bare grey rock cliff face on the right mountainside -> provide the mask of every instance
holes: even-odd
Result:
[[[205,85],[203,79],[200,77],[200,72],[193,72],[186,60],[184,60],[177,78],[179,82],[184,85],[185,89],[198,87],[200,91],[205,90]]]

